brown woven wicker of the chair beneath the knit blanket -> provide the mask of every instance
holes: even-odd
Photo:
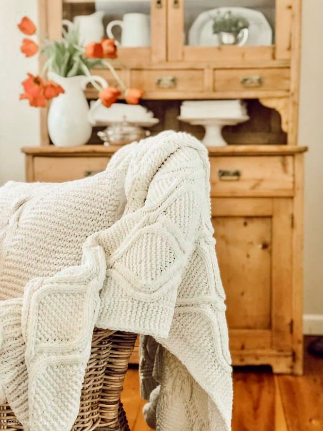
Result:
[[[71,431],[130,431],[120,394],[136,341],[130,332],[95,329],[79,414]],[[23,430],[8,404],[0,406],[0,430]]]

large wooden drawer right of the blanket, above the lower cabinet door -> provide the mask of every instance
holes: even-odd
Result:
[[[211,196],[292,196],[293,156],[210,157]]]

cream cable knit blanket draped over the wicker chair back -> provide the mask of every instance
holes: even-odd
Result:
[[[81,262],[30,279],[21,297],[15,287],[10,299],[8,288],[0,302],[2,398],[25,430],[69,431],[94,326],[126,330],[167,349],[157,430],[228,431],[231,367],[206,149],[164,132],[124,147],[107,172],[118,195],[124,184],[126,205],[114,201],[114,220],[88,237]],[[0,253],[12,240],[3,229]]]

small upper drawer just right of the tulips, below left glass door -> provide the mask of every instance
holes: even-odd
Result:
[[[145,91],[203,91],[203,70],[133,70],[131,86]]]

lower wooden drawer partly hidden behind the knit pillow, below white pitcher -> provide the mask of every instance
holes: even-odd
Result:
[[[36,156],[34,181],[60,183],[84,178],[105,170],[110,157],[41,157]]]

